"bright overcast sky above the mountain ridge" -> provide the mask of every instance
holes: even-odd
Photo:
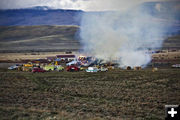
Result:
[[[49,6],[84,11],[126,10],[134,5],[149,1],[168,0],[0,0],[0,9]]]

